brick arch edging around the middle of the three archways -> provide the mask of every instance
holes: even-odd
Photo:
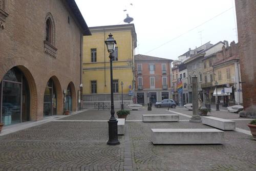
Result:
[[[63,114],[63,96],[62,96],[62,89],[61,89],[59,79],[55,75],[51,76],[49,79],[53,80],[56,93],[57,93],[57,115],[62,115]],[[47,81],[49,81],[49,79]]]

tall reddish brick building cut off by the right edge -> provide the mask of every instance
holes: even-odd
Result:
[[[256,3],[236,0],[239,57],[245,112],[256,118]]]

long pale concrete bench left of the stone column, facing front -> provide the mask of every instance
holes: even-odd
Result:
[[[142,115],[143,122],[178,122],[179,115]]]

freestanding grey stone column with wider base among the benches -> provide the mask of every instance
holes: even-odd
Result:
[[[201,117],[198,115],[198,82],[197,77],[192,77],[192,105],[193,105],[193,116],[189,122],[202,122]]]

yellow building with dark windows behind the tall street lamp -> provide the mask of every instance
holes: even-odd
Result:
[[[121,82],[123,82],[123,101],[132,102],[135,84],[134,54],[137,46],[134,24],[90,27],[89,29],[92,36],[86,36],[83,39],[84,105],[93,106],[94,102],[111,100],[110,58],[104,42],[110,33],[117,42],[113,61],[115,108],[120,107]]]

